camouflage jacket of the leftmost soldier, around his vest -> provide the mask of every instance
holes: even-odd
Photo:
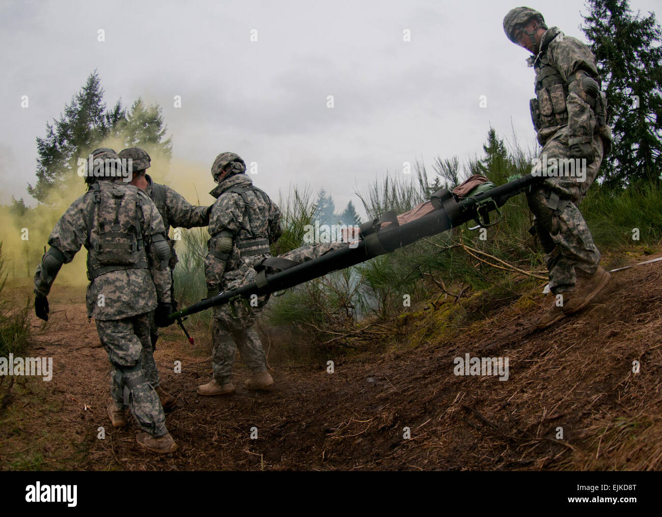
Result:
[[[151,242],[152,235],[158,233],[165,235],[164,223],[158,209],[144,192],[121,182],[113,182],[113,187],[135,189],[138,192],[141,201],[138,206],[141,207],[139,215],[142,238],[146,247]],[[90,249],[98,242],[98,210],[95,210],[92,228],[88,227],[89,213],[94,210],[94,205],[94,194],[89,190],[71,203],[48,237],[48,245],[62,252],[65,264],[73,260],[73,256],[78,253],[81,246],[85,245],[85,248]],[[88,235],[89,243],[87,243]],[[34,276],[34,294],[47,296],[53,281],[54,278],[44,278],[38,268]],[[87,286],[87,316],[99,320],[136,316],[154,310],[157,300],[160,302],[170,300],[169,275],[165,282],[156,276],[152,278],[147,268],[109,271],[91,280]]]

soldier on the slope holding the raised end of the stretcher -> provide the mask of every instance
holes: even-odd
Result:
[[[547,170],[538,164],[547,177],[527,195],[546,254],[549,288],[563,298],[537,322],[542,329],[585,308],[610,280],[578,205],[610,148],[611,131],[595,57],[585,44],[557,27],[548,29],[542,14],[528,7],[512,9],[503,28],[508,39],[533,54],[528,64],[536,72],[536,99],[530,107],[543,146],[540,164],[549,164]],[[569,159],[586,160],[585,180],[559,174],[557,164]]]

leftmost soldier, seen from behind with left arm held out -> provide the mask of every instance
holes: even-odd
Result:
[[[93,317],[99,339],[111,362],[108,414],[114,427],[126,425],[129,406],[145,431],[136,436],[142,447],[168,453],[177,448],[166,429],[166,416],[154,387],[145,378],[141,357],[150,347],[150,312],[167,319],[170,284],[150,274],[150,262],[167,269],[169,247],[156,205],[143,192],[118,179],[117,153],[99,148],[92,153],[89,190],[73,201],[56,223],[50,249],[34,275],[34,311],[48,321],[48,292],[62,264],[87,249],[87,316]]]

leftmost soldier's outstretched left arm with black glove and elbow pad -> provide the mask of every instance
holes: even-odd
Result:
[[[62,267],[68,264],[81,249],[87,239],[86,219],[83,216],[85,196],[71,203],[67,211],[60,217],[48,237],[50,248],[42,257],[41,263],[34,273],[34,313],[44,321],[48,321],[48,293],[55,277]]]

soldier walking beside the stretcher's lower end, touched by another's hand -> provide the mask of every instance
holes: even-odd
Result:
[[[216,156],[211,174],[218,186],[211,191],[216,198],[209,218],[209,254],[205,258],[207,296],[215,296],[230,286],[254,282],[254,264],[271,257],[269,245],[281,235],[281,213],[269,196],[253,186],[246,176],[246,164],[234,152]],[[230,381],[237,349],[252,371],[246,388],[263,389],[273,384],[267,372],[260,336],[254,323],[267,302],[267,296],[253,296],[244,304],[238,300],[214,307],[212,323],[214,378],[198,386],[201,395],[234,393]]]

